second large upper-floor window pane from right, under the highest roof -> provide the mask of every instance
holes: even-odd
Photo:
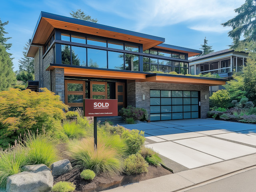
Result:
[[[108,69],[124,70],[124,53],[108,51]]]

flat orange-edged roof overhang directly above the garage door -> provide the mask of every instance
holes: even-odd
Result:
[[[143,79],[140,81],[215,86],[215,85],[224,85],[226,84],[227,80],[222,78],[209,78],[209,77],[154,73],[154,74],[146,75],[146,79]]]

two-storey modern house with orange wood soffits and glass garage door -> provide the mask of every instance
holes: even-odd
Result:
[[[202,52],[164,41],[41,12],[27,56],[34,57],[39,88],[58,94],[70,110],[82,107],[84,98],[108,98],[118,99],[118,110],[145,108],[152,121],[206,118],[209,86],[226,79],[185,76],[188,57]]]

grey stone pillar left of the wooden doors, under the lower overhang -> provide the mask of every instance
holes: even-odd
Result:
[[[61,100],[65,103],[65,84],[64,84],[64,69],[54,68],[52,70],[52,92],[58,94],[61,92]]]

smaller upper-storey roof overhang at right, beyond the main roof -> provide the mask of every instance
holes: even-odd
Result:
[[[196,49],[189,49],[189,48],[186,48],[186,47],[168,45],[168,44],[165,44],[165,43],[161,43],[160,45],[155,46],[155,48],[165,49],[165,50],[169,50],[169,51],[177,51],[177,52],[182,52],[182,53],[188,53],[188,57],[193,57],[195,55],[202,54],[202,51],[199,51],[199,50],[196,50]]]

